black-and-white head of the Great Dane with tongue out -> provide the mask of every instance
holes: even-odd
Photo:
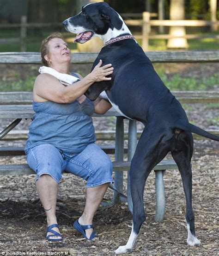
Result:
[[[78,34],[74,41],[80,44],[95,36],[103,41],[109,40],[110,38],[104,38],[108,31],[118,31],[122,24],[119,14],[104,2],[83,6],[78,15],[63,21],[67,31]]]

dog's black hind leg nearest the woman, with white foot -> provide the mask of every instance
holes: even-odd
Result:
[[[145,182],[153,167],[168,153],[166,144],[162,143],[164,133],[154,129],[143,131],[135,150],[130,167],[130,184],[133,201],[133,225],[128,242],[120,246],[115,253],[130,253],[139,234],[140,227],[146,219],[144,212]]]

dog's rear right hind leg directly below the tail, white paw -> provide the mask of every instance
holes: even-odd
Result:
[[[201,242],[195,236],[195,216],[192,209],[192,169],[191,158],[193,153],[193,138],[190,132],[183,131],[178,140],[179,151],[172,151],[183,181],[186,197],[186,222],[188,229],[187,244],[189,246],[200,245]]]

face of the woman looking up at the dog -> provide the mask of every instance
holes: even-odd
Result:
[[[62,64],[71,61],[71,51],[67,48],[67,43],[61,38],[53,38],[48,43],[49,54],[46,55],[49,65]],[[46,57],[45,56],[45,57]]]

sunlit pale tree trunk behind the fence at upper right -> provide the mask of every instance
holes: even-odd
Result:
[[[170,1],[170,19],[183,20],[184,17],[185,17],[184,0],[171,0]],[[175,37],[168,39],[167,48],[171,48],[171,49],[188,48],[187,39],[183,38],[183,36],[186,35],[186,31],[184,27],[171,26],[170,35]],[[180,37],[176,37],[176,36],[180,36]]]

